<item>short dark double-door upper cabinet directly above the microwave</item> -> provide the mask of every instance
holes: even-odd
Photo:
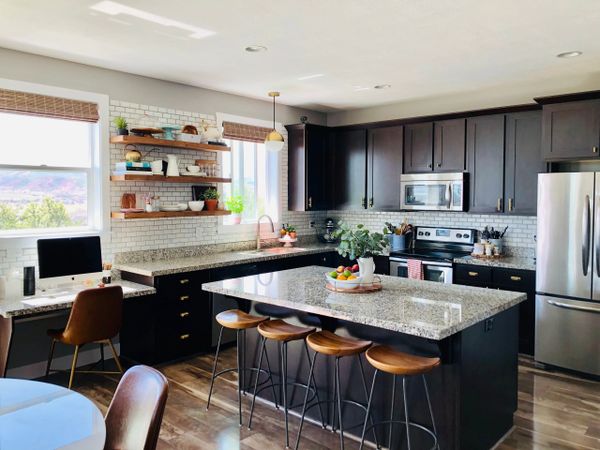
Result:
[[[465,170],[465,119],[405,125],[404,173]]]

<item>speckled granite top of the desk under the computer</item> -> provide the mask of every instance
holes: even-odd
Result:
[[[111,286],[123,287],[123,298],[139,297],[156,293],[156,289],[143,284],[132,283],[130,281],[118,280]],[[77,292],[85,289],[83,286],[52,290],[51,294],[42,292],[36,293],[31,297],[24,297],[22,293],[10,295],[0,299],[0,316],[19,317],[29,316],[31,314],[40,314],[49,311],[69,309],[73,305]],[[27,303],[24,303],[27,302]]]

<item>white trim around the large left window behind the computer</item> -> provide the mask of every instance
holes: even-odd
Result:
[[[24,234],[14,234],[0,236],[0,249],[34,247],[39,238],[52,238],[64,236],[98,236],[100,235],[103,243],[110,242],[110,185],[108,180],[110,164],[110,126],[109,126],[109,97],[105,94],[95,92],[79,91],[74,89],[62,88],[57,86],[48,86],[25,81],[10,80],[0,78],[0,88],[12,89],[16,91],[31,92],[33,94],[50,95],[63,97],[72,100],[82,100],[94,102],[98,105],[99,120],[95,125],[98,132],[97,140],[92,139],[92,166],[89,170],[92,174],[88,184],[90,192],[88,198],[91,198],[91,205],[88,210],[88,217],[92,219],[92,225],[83,229],[64,229],[46,232],[26,232]],[[91,128],[92,129],[92,128]],[[92,136],[94,137],[94,136]],[[31,167],[28,170],[43,170],[43,166]],[[54,170],[54,167],[49,168]],[[79,170],[71,168],[70,170]]]

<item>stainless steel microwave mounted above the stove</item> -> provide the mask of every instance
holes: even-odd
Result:
[[[414,211],[466,211],[468,174],[422,173],[400,176],[401,208]]]

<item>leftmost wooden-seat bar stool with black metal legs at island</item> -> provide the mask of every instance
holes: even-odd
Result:
[[[208,391],[208,401],[206,404],[206,409],[210,407],[210,399],[212,397],[213,385],[215,382],[215,378],[220,377],[223,374],[228,372],[237,372],[238,374],[238,411],[240,416],[240,426],[242,426],[242,390],[246,391],[245,385],[245,377],[244,373],[246,371],[256,372],[256,379],[261,373],[267,375],[267,379],[263,382],[271,382],[271,388],[273,389],[273,398],[277,399],[275,396],[275,387],[273,384],[273,377],[271,376],[271,365],[269,364],[269,357],[267,356],[267,370],[261,369],[260,367],[250,367],[245,368],[242,355],[245,356],[245,342],[246,342],[246,330],[250,328],[256,328],[260,323],[269,320],[268,317],[260,317],[253,316],[251,314],[245,313],[239,309],[230,309],[227,311],[220,312],[215,316],[216,321],[221,325],[221,330],[219,331],[219,340],[217,342],[217,351],[215,353],[215,360],[213,363],[212,375],[210,377],[210,389]],[[237,367],[230,367],[227,369],[223,369],[217,373],[217,363],[219,361],[219,351],[221,349],[221,340],[223,338],[223,329],[228,328],[231,330],[236,330],[236,350],[237,350]],[[277,407],[277,400],[275,400],[275,406]]]

